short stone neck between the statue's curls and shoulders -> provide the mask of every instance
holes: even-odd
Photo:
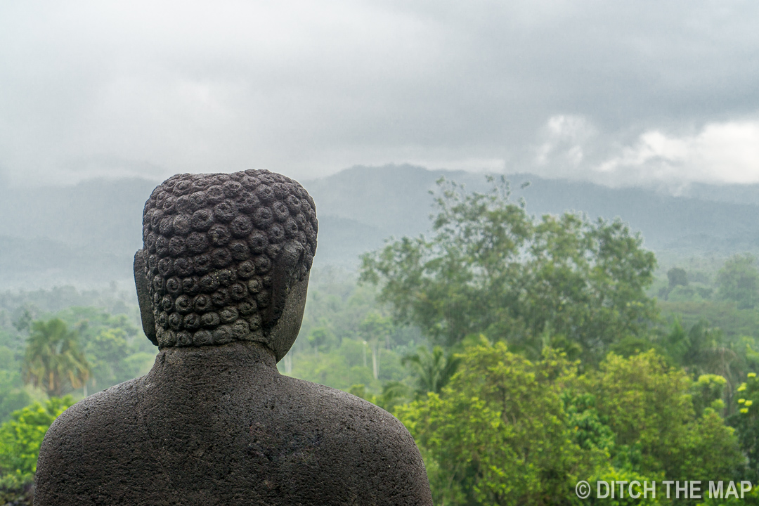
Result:
[[[279,375],[272,350],[259,343],[234,341],[218,346],[164,348],[148,376],[157,381],[219,385],[272,375]]]

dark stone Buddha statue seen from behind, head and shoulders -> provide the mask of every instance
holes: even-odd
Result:
[[[432,504],[405,427],[282,376],[317,247],[313,200],[269,171],[181,174],[145,204],[134,279],[159,347],[52,424],[35,504]]]

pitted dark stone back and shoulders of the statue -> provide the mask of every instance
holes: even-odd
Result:
[[[271,369],[227,374],[250,346],[162,352],[72,407],[46,437],[37,504],[431,504],[398,420]]]

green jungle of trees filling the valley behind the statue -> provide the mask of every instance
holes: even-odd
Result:
[[[430,237],[315,269],[280,370],[402,420],[435,504],[580,504],[581,479],[757,485],[756,259],[658,266],[619,220],[534,217],[491,183],[441,181]],[[0,294],[0,504],[29,500],[55,416],[155,354],[131,288]]]

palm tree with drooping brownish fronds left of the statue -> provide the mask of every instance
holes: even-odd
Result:
[[[79,348],[77,332],[60,319],[33,322],[27,338],[24,373],[27,382],[44,388],[49,397],[81,388],[90,377],[90,364]]]

